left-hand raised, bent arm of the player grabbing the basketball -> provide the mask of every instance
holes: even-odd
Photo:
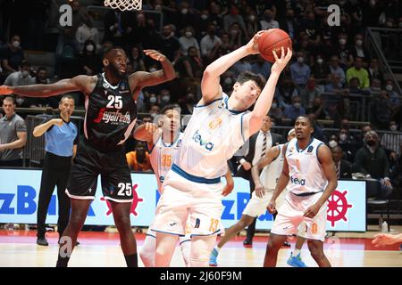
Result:
[[[220,77],[223,72],[229,69],[236,61],[246,57],[250,54],[258,53],[258,39],[261,37],[262,32],[258,32],[255,36],[248,42],[247,45],[243,45],[237,50],[223,55],[221,58],[217,59],[210,65],[208,65],[204,71],[204,76],[201,81],[201,92],[203,98],[199,102],[202,105],[213,102],[219,96],[221,96],[221,86],[219,85]]]

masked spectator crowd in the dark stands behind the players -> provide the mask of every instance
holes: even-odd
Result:
[[[364,35],[366,27],[402,28],[402,1],[143,0],[143,11],[110,9],[99,19],[93,9],[88,11],[74,0],[68,2],[72,8],[72,26],[59,27],[52,77],[47,75],[46,68],[32,68],[25,61],[25,50],[40,50],[46,37],[43,21],[48,1],[30,2],[29,9],[40,11],[42,16],[38,19],[38,15],[29,13],[27,19],[21,20],[31,23],[28,30],[36,27],[36,33],[30,37],[26,36],[29,35],[27,28],[21,28],[21,22],[14,19],[9,22],[10,27],[7,26],[11,35],[5,38],[4,23],[8,16],[4,15],[14,12],[13,5],[4,8],[3,25],[0,23],[0,85],[48,84],[80,74],[95,75],[102,72],[103,51],[112,45],[120,45],[128,54],[128,72],[152,72],[160,66],[145,56],[143,50],[157,49],[174,63],[177,77],[143,90],[138,99],[138,112],[143,113],[140,119],[152,120],[164,105],[172,102],[180,106],[183,115],[191,114],[193,105],[201,97],[201,77],[210,62],[245,45],[258,30],[281,28],[292,39],[294,59],[277,85],[270,110],[272,121],[277,126],[291,126],[298,115],[304,114],[315,120],[333,121],[333,125],[325,126],[339,129],[337,134],[324,134],[319,123],[314,134],[332,147],[339,145],[344,159],[355,163],[364,174],[370,174],[370,169],[364,169],[364,158],[376,153],[373,147],[383,150],[376,158],[383,159],[384,155],[387,159],[387,164],[384,162],[381,167],[392,169],[401,165],[402,135],[398,134],[402,121],[401,94],[395,82],[384,77],[376,54],[367,50]],[[91,4],[102,6],[103,1]],[[330,4],[339,5],[338,27],[328,25]],[[99,20],[103,27],[94,25]],[[397,48],[398,40],[396,43],[389,44],[391,47],[387,45],[391,51],[389,56],[402,58],[402,48]],[[230,94],[241,71],[250,70],[268,78],[270,68],[271,63],[260,56],[249,56],[222,75],[222,89]],[[371,125],[358,126],[362,127],[361,134],[350,132],[356,128],[351,121],[361,119],[356,118],[356,108],[362,106],[364,96],[370,98],[373,106],[368,118]],[[84,104],[82,97],[76,97],[77,108]],[[17,108],[54,108],[57,102],[16,97]],[[364,128],[389,133],[380,136],[374,132],[375,143],[367,147],[367,142],[371,141],[365,137]],[[147,171],[147,163],[143,161],[147,159],[147,152],[141,144],[135,145],[135,142],[131,144],[130,151],[136,151],[139,159],[130,158],[133,169]],[[372,176],[377,175],[374,173]],[[390,174],[381,175],[383,178]]]

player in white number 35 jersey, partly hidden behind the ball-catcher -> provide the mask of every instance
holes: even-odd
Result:
[[[182,141],[183,133],[180,132],[180,107],[177,105],[167,105],[161,110],[162,116],[157,118],[157,125],[146,123],[138,126],[134,132],[134,138],[138,141],[145,141],[150,150],[151,165],[155,172],[158,183],[158,191],[162,194],[164,177],[172,168],[172,163],[176,159],[176,154]],[[233,179],[230,172],[226,175],[226,187],[224,195],[228,195],[233,190]],[[180,236],[180,248],[184,263],[188,266],[188,256],[190,251],[190,226],[186,227],[186,235]],[[139,252],[139,256],[146,267],[155,265],[155,246],[156,235],[151,228],[147,231],[147,237]]]

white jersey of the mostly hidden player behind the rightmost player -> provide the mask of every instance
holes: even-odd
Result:
[[[279,148],[280,153],[276,159],[273,159],[272,162],[263,168],[261,171],[260,180],[263,183],[264,187],[267,189],[275,189],[276,184],[278,183],[279,177],[281,176],[281,172],[283,169],[283,146],[285,144],[279,144],[274,146],[274,148]]]

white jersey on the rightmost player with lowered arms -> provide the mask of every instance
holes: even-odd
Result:
[[[317,157],[321,144],[323,142],[313,137],[304,150],[298,148],[296,138],[288,143],[286,160],[289,165],[289,191],[303,195],[324,190],[327,179]]]

